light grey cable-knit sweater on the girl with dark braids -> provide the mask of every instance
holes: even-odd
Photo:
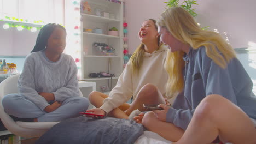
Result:
[[[56,101],[79,97],[77,66],[74,59],[62,53],[59,61],[51,62],[44,51],[30,53],[18,81],[19,93],[41,110],[48,102],[38,92],[54,93]]]

